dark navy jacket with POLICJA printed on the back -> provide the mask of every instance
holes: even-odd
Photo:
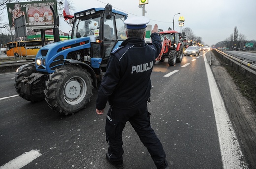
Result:
[[[150,75],[162,44],[157,33],[151,34],[152,43],[144,39],[128,38],[111,53],[107,71],[98,90],[96,108],[110,105],[131,109],[150,97]]]

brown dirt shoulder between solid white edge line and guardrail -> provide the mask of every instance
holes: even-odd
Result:
[[[253,102],[244,97],[234,79],[223,66],[223,62],[212,51],[206,53],[215,81],[224,99],[229,118],[234,129],[249,169],[256,169],[256,113]],[[239,72],[237,72],[239,73]]]

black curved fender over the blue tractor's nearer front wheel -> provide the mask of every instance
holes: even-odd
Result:
[[[81,62],[81,61],[78,61],[78,60],[74,60],[74,59],[61,59],[61,60],[65,61],[64,65],[66,63],[69,63],[71,65],[80,65],[82,68],[86,69],[87,72],[89,72],[91,74],[91,78],[93,79],[93,86],[95,88],[98,88],[96,74],[95,74],[95,72],[94,72],[94,70],[92,69],[91,66],[89,66],[88,64],[86,64],[84,62]]]

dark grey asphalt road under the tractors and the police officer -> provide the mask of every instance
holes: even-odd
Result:
[[[168,66],[167,60],[154,65],[148,104],[152,128],[171,169],[246,169],[230,121],[219,105],[222,100],[209,80],[204,53],[186,56],[176,66]],[[26,155],[32,160],[19,163],[22,169],[114,169],[105,160],[106,115],[96,114],[97,89],[85,109],[64,116],[45,101],[30,103],[17,96],[14,77],[14,73],[0,74],[0,169],[17,158],[25,163]],[[123,142],[125,169],[155,169],[129,123]]]

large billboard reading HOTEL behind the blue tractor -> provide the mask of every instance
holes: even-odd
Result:
[[[14,20],[25,16],[27,29],[52,29],[54,27],[53,11],[57,16],[56,0],[7,3],[8,19],[11,28],[14,28]]]

